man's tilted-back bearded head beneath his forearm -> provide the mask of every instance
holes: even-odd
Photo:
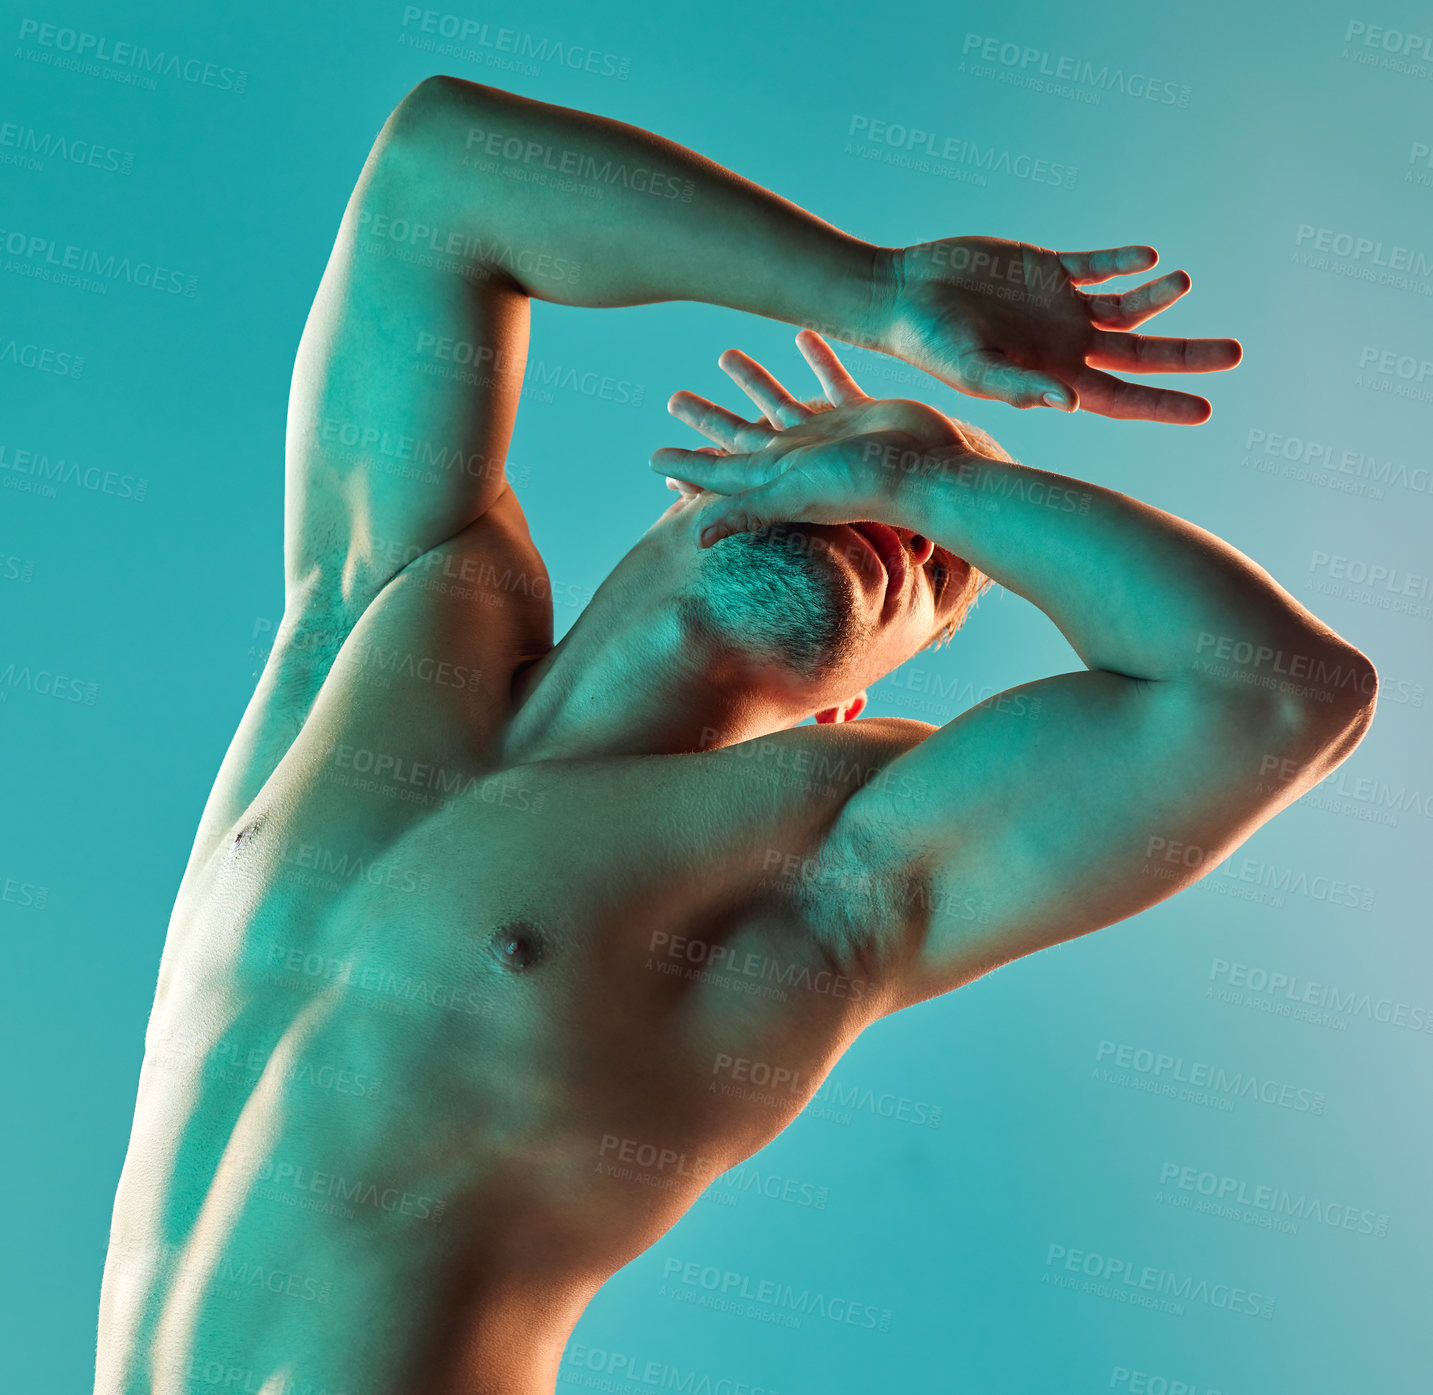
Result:
[[[957,424],[982,453],[1010,459],[977,427]],[[629,627],[672,627],[714,684],[784,714],[774,730],[811,714],[857,715],[868,684],[954,634],[989,585],[931,541],[881,523],[788,523],[699,548],[711,499],[679,493],[602,584],[585,619],[602,624],[613,644],[631,638]]]

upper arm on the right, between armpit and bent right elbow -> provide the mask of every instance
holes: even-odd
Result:
[[[891,885],[913,1001],[1165,899],[1293,799],[1271,753],[1310,756],[1277,701],[1063,674],[957,718],[891,767]]]

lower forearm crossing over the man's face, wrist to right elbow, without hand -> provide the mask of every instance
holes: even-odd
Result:
[[[1369,697],[1367,660],[1205,529],[1022,465],[963,452],[920,460],[904,472],[890,462],[903,525],[1045,611],[1089,668],[1265,691],[1303,680],[1311,692]]]

